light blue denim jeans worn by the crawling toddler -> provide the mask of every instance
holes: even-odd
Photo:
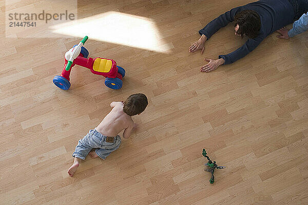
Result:
[[[97,130],[90,130],[84,138],[78,141],[73,157],[85,159],[89,152],[96,148],[95,153],[100,158],[105,159],[111,152],[117,150],[121,144],[121,137],[119,135],[114,137],[114,142],[107,142],[106,138],[107,136]]]

